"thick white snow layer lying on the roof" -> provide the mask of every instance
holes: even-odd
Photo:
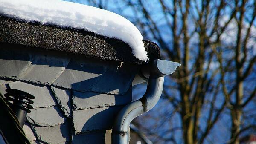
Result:
[[[113,12],[59,0],[0,0],[0,14],[26,22],[84,29],[117,38],[131,46],[134,56],[148,60],[140,31]]]

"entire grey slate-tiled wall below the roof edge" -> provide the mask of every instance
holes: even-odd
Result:
[[[32,144],[111,144],[139,65],[18,45],[0,52],[0,92],[35,96],[23,128]]]

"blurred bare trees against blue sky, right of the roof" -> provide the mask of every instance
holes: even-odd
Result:
[[[239,144],[255,132],[255,0],[87,2],[127,17],[182,65],[157,107],[133,121],[154,143]]]

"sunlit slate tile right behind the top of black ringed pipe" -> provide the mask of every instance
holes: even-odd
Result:
[[[12,89],[19,89],[24,92],[28,92],[31,95],[35,96],[35,99],[33,99],[34,104],[32,104],[32,107],[34,109],[40,108],[40,107],[50,107],[55,106],[54,99],[52,98],[52,95],[47,88],[47,86],[38,85],[38,84],[28,84],[20,81],[15,81],[8,84],[10,88]]]

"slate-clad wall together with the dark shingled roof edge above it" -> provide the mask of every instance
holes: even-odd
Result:
[[[150,59],[160,58],[155,43],[143,43]],[[0,92],[35,96],[24,127],[32,144],[111,144],[142,64],[121,40],[0,14]]]

